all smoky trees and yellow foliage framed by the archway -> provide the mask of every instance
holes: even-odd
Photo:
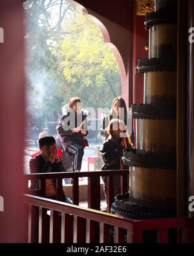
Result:
[[[75,96],[84,107],[110,107],[120,94],[120,73],[100,29],[65,0],[24,5],[28,115],[34,122],[56,120]]]

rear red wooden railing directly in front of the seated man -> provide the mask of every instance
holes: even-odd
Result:
[[[88,178],[88,207],[91,209],[100,210],[100,176],[107,176],[107,212],[111,211],[111,204],[114,202],[113,193],[113,177],[120,176],[121,193],[127,192],[129,189],[127,184],[129,183],[129,170],[104,170],[94,172],[52,172],[45,174],[28,174],[26,177],[26,184],[28,186],[28,180],[40,180],[40,189],[34,191],[28,191],[27,193],[35,194],[38,196],[45,196],[45,180],[56,180],[57,196],[56,199],[61,201],[62,198],[62,180],[64,178],[72,178],[72,202],[75,205],[79,205],[79,178]]]

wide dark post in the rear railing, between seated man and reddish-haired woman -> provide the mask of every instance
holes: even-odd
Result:
[[[88,178],[88,207],[100,210],[100,176]]]

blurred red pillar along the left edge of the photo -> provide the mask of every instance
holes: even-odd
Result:
[[[4,208],[0,211],[0,242],[25,242],[27,238],[22,196],[25,139],[23,19],[21,0],[0,1],[0,27],[4,33],[4,43],[0,43],[0,196]]]

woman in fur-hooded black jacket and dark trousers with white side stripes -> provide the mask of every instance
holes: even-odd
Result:
[[[87,112],[81,110],[78,97],[70,99],[63,107],[63,116],[56,127],[61,144],[66,152],[74,154],[74,170],[80,172],[83,158],[83,137],[87,136]]]

